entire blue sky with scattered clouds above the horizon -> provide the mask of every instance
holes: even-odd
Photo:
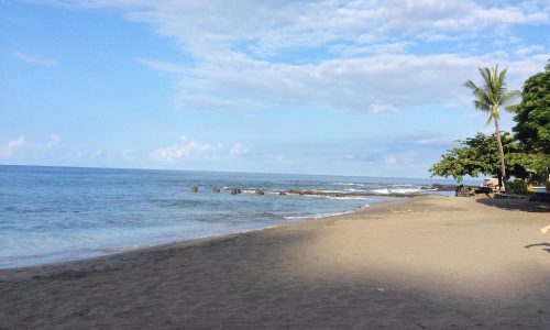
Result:
[[[429,177],[550,1],[0,0],[0,164]],[[513,116],[502,114],[510,130]]]

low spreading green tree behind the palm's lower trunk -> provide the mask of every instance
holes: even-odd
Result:
[[[516,177],[527,177],[528,173],[522,165],[526,158],[521,158],[520,145],[514,142],[507,132],[499,134],[503,148],[506,152],[507,174]],[[451,148],[442,155],[442,160],[436,163],[429,172],[431,176],[454,177],[462,182],[465,175],[473,177],[480,174],[492,176],[502,175],[498,164],[499,152],[496,143],[496,134],[486,135],[477,133],[473,138],[458,141],[460,147]]]

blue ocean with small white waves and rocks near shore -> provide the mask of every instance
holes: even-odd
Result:
[[[442,182],[3,165],[0,268],[340,215],[398,198],[391,194],[439,194],[435,183]],[[237,188],[242,194],[230,194]],[[292,189],[309,193],[279,194]]]

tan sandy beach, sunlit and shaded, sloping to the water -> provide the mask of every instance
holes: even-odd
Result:
[[[548,329],[549,205],[416,197],[0,271],[1,329]]]

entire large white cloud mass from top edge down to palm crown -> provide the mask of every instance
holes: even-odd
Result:
[[[509,33],[549,24],[548,1],[61,1],[114,7],[177,41],[191,64],[138,62],[180,80],[180,109],[258,109],[297,103],[388,112],[425,103],[454,103],[476,67],[509,67],[509,87],[543,68],[548,54]],[[502,52],[492,40],[521,47]],[[458,53],[426,47],[463,44]],[[480,42],[481,41],[481,42]],[[482,44],[483,47],[479,47]],[[487,48],[488,47],[488,48]],[[433,50],[432,50],[433,48]],[[448,51],[447,51],[448,50]],[[488,50],[488,51],[487,51]],[[293,53],[297,52],[297,53]],[[308,59],[308,54],[320,54]],[[514,56],[515,57],[514,57]],[[286,56],[286,57],[285,57]],[[299,64],[289,58],[300,58]],[[287,58],[285,61],[285,58]],[[514,58],[514,59],[513,59]]]

